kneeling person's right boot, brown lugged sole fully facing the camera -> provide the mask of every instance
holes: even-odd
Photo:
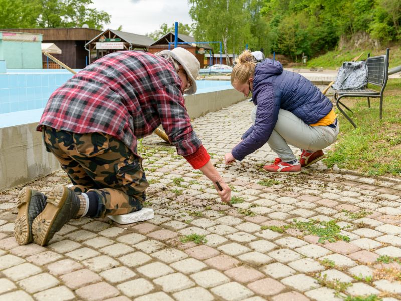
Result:
[[[63,185],[56,185],[48,195],[45,209],[32,223],[34,242],[47,245],[64,224],[76,217],[79,207],[78,195]]]

